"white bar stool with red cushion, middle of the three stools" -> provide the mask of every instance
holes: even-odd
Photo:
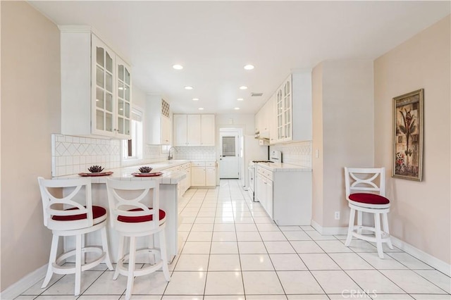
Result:
[[[159,209],[159,180],[146,178],[144,180],[106,180],[110,209],[111,227],[119,233],[118,264],[113,279],[118,275],[125,275],[127,290],[125,299],[132,295],[135,276],[147,275],[162,269],[166,280],[171,280],[168,270],[168,256],[166,252],[166,212]],[[149,203],[152,201],[152,207]],[[148,202],[148,203],[147,203]],[[160,249],[153,247],[153,237],[158,235]],[[125,237],[130,238],[128,254],[124,254]],[[149,246],[136,249],[136,238],[148,237]],[[151,261],[159,256],[159,261],[147,268],[135,270],[136,256],[147,254]],[[128,261],[128,268],[124,263]]]

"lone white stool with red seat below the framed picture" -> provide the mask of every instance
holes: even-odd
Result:
[[[382,243],[387,243],[393,249],[388,230],[390,200],[385,198],[385,168],[345,168],[345,187],[346,199],[351,208],[345,245],[350,245],[352,237],[376,242],[378,256],[383,258]],[[354,225],[356,211],[357,225]],[[362,225],[363,213],[373,214],[374,227]],[[362,230],[373,232],[373,235],[363,235]]]

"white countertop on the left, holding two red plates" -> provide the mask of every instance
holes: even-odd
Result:
[[[132,173],[139,173],[138,170],[140,167],[144,165],[133,165],[131,167],[123,167],[123,168],[113,168],[109,170],[103,170],[103,172],[113,172],[111,175],[107,176],[93,176],[91,178],[92,183],[106,183],[106,178],[113,178],[117,180],[159,180],[163,185],[176,185],[180,180],[186,177],[186,173],[184,171],[165,171],[169,168],[173,168],[177,165],[183,165],[184,163],[190,163],[190,160],[173,160],[173,161],[160,161],[156,163],[147,163],[145,166],[152,167],[151,173],[161,172],[162,175],[154,176],[154,177],[135,177]],[[68,178],[80,178],[80,175],[66,175],[54,177],[54,179],[68,179]]]

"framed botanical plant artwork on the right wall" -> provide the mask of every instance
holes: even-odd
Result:
[[[392,177],[422,180],[424,89],[393,98]]]

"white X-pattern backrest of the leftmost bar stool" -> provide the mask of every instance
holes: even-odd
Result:
[[[50,230],[77,230],[93,225],[90,178],[49,180],[38,177],[44,225]],[[56,188],[67,188],[67,196]],[[70,209],[72,208],[72,209]]]

